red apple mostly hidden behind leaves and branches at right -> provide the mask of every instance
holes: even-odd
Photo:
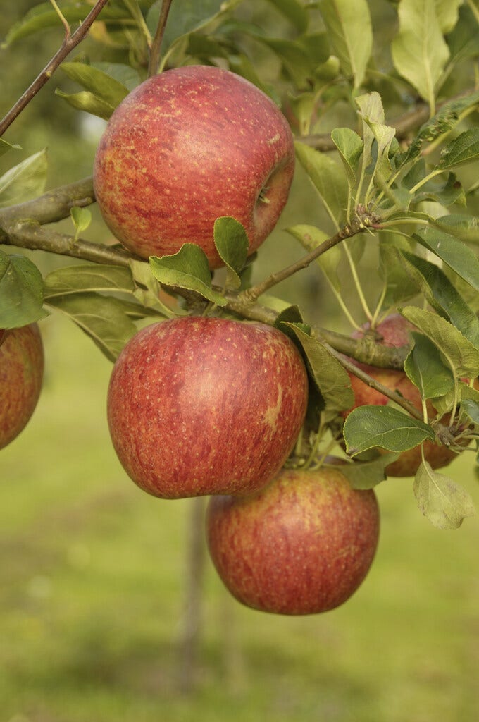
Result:
[[[407,346],[410,344],[410,331],[414,330],[417,330],[416,327],[404,318],[404,316],[401,316],[400,313],[392,313],[377,325],[377,339],[378,342],[386,344],[387,346]],[[368,331],[369,326],[366,324],[364,331],[356,331],[353,337],[359,339]],[[387,388],[400,393],[405,399],[411,401],[417,409],[422,409],[421,393],[419,393],[417,386],[414,386],[404,371],[361,364],[353,359],[351,359],[351,361],[372,376],[372,378],[384,386],[387,386]],[[344,417],[346,417],[352,409],[355,409],[356,406],[363,406],[364,404],[384,406],[389,402],[389,399],[387,396],[384,396],[384,393],[380,393],[376,391],[376,389],[367,386],[364,381],[361,381],[351,373],[349,376],[354,393],[354,405],[343,414]],[[432,406],[429,401],[427,403],[427,409],[432,417],[436,415],[436,409],[434,409],[434,406]],[[448,422],[449,417],[447,416],[444,418],[444,423]],[[424,458],[426,458],[426,461],[429,461],[432,469],[441,469],[441,467],[447,466],[447,464],[450,464],[457,456],[457,453],[452,451],[451,448],[429,440],[423,443],[423,451]],[[413,477],[421,465],[421,461],[421,445],[418,445],[412,449],[408,449],[408,451],[401,452],[396,461],[389,464],[385,471],[389,477]]]

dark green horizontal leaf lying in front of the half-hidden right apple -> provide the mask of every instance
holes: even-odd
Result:
[[[434,441],[434,430],[392,406],[358,406],[348,414],[343,427],[350,456],[381,447],[408,451],[426,439]]]

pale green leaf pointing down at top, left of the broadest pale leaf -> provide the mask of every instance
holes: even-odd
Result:
[[[333,53],[341,69],[359,88],[372,52],[372,24],[366,0],[320,0]]]

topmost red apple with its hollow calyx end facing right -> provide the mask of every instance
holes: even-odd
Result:
[[[216,218],[241,222],[253,253],[276,225],[293,174],[281,110],[242,77],[197,65],[149,78],[118,105],[93,176],[103,218],[130,251],[148,258],[196,243],[218,268]]]

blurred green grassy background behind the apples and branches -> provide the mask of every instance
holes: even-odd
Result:
[[[1,33],[32,2],[1,2]],[[387,4],[384,4],[385,6]],[[61,30],[2,51],[6,112],[61,42]],[[100,126],[53,95],[54,77],[5,136],[49,146],[48,186],[91,173]],[[262,277],[302,255],[284,227],[321,223],[299,171],[260,252]],[[63,222],[72,232],[69,222]],[[96,223],[87,238],[105,237]],[[59,263],[40,253],[48,269]],[[374,269],[374,258],[364,274]],[[348,330],[302,272],[309,320]],[[373,284],[369,284],[372,287]],[[298,287],[282,295],[298,302]],[[358,318],[361,321],[361,318]],[[377,487],[382,534],[372,570],[344,606],[315,617],[253,612],[206,559],[199,647],[184,687],[188,536],[194,503],[155,500],[118,463],[107,432],[111,365],[61,316],[41,324],[43,394],[0,456],[1,722],[473,722],[479,708],[478,520],[437,531],[409,479]],[[470,458],[449,467],[477,500]]]

